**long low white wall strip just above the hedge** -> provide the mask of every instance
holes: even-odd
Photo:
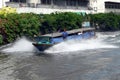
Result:
[[[76,9],[52,9],[52,8],[17,8],[18,13],[37,13],[37,14],[50,14],[53,12],[86,12],[87,14],[91,13],[89,10],[76,10]]]

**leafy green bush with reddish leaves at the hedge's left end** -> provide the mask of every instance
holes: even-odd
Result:
[[[2,35],[5,35],[6,42],[13,42],[20,36],[39,34],[40,22],[36,14],[8,14],[6,17],[0,16],[0,27],[5,30]]]

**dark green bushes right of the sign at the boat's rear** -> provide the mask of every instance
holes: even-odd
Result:
[[[99,26],[102,31],[120,30],[120,15],[114,13],[100,13],[90,15],[92,24]]]

